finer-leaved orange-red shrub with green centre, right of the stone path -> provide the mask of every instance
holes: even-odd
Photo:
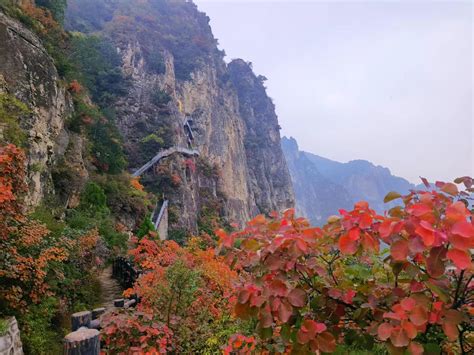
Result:
[[[147,316],[139,319],[133,316],[130,331],[128,326],[124,331],[116,325],[125,321],[115,317],[124,316],[110,317],[103,332],[107,350],[133,352],[127,344],[132,347],[142,344],[146,353],[152,347],[158,349],[156,344],[165,337],[166,346],[176,353],[199,353],[212,346],[209,353],[219,351],[232,334],[225,333],[225,329],[233,322],[232,286],[236,272],[213,249],[202,250],[197,238],[188,241],[187,247],[180,247],[174,241],[162,242],[152,237],[134,240],[136,246],[130,255],[143,273],[134,287],[125,291],[125,296],[140,298],[136,315]],[[166,332],[141,343],[139,339],[149,332],[150,324],[159,325]],[[132,328],[136,330],[131,331]],[[220,335],[221,332],[225,335]],[[208,344],[210,338],[215,338],[216,344]]]

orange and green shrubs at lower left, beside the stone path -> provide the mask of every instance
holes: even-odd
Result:
[[[27,352],[50,354],[59,351],[57,315],[91,301],[81,290],[100,262],[99,235],[51,231],[25,215],[25,155],[14,145],[0,148],[0,176],[0,317],[18,318]]]

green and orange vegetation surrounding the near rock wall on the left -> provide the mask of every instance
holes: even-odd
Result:
[[[130,213],[140,221],[147,213],[148,195],[124,172],[114,124],[113,103],[127,87],[121,59],[105,38],[65,32],[65,5],[0,1],[0,9],[34,31],[54,59],[74,104],[67,128],[86,139],[90,175],[85,182],[68,161],[59,160],[51,172],[55,194],[26,213],[30,143],[21,123],[34,113],[29,103],[0,93],[0,318],[3,324],[3,317],[17,317],[30,354],[61,353],[69,314],[100,305],[99,270],[126,248],[119,216]],[[77,190],[78,203],[66,208]]]

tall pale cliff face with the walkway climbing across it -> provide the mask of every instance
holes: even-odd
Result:
[[[141,178],[170,200],[172,228],[195,231],[209,215],[242,224],[293,206],[274,106],[247,63],[225,64],[209,19],[194,4],[144,2],[131,9],[109,3],[102,10],[113,16],[92,22],[83,19],[81,5],[91,6],[71,1],[69,26],[100,29],[130,79],[115,107],[130,170],[160,149],[188,146],[183,124],[191,121],[191,147],[200,157],[175,155]]]

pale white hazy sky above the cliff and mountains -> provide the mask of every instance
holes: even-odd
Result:
[[[474,175],[471,1],[195,3],[300,149],[412,182]]]

